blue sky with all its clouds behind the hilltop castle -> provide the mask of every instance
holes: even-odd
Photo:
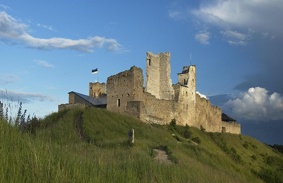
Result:
[[[192,53],[197,91],[242,134],[283,144],[282,0],[0,1],[2,99],[40,117],[167,51],[173,84]]]

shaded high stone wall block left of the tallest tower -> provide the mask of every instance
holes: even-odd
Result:
[[[107,78],[107,109],[125,114],[127,102],[138,101],[143,90],[142,69],[136,66]],[[119,105],[120,101],[120,106]]]

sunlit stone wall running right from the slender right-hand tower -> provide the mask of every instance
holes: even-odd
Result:
[[[202,125],[206,131],[221,132],[221,108],[210,105],[210,101],[196,94],[196,121],[193,126],[200,128]]]

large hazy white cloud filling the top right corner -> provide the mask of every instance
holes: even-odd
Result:
[[[225,27],[237,26],[277,33],[283,30],[282,0],[214,0],[191,13],[206,22]]]

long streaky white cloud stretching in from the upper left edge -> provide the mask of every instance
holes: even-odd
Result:
[[[93,48],[101,48],[106,45],[107,51],[118,53],[128,52],[117,40],[106,39],[104,37],[88,37],[87,39],[71,40],[66,38],[35,38],[26,32],[27,25],[8,15],[0,12],[0,38],[11,41],[19,41],[27,47],[35,49],[70,49],[81,52],[92,53]]]

